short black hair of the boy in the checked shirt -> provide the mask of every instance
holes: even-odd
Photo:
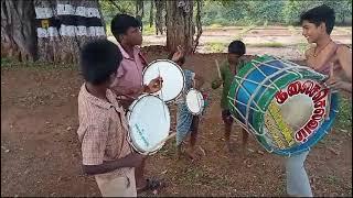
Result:
[[[108,40],[95,40],[81,51],[82,75],[87,82],[100,85],[116,73],[122,59],[119,47]]]

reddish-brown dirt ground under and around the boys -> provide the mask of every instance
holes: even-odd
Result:
[[[149,61],[165,57],[161,52],[154,47]],[[216,75],[215,58],[225,55],[196,54],[186,65],[210,82]],[[1,196],[99,196],[94,178],[81,169],[76,135],[81,85],[76,68],[1,68]],[[282,157],[266,153],[254,139],[247,156],[240,156],[237,125],[232,134],[235,153],[226,153],[220,94],[211,91],[200,125],[200,153],[204,150],[205,156],[194,163],[176,162],[174,141],[169,141],[148,158],[147,175],[168,185],[158,196],[285,196]],[[171,109],[174,125],[175,107]],[[351,133],[329,133],[310,152],[306,167],[315,196],[351,196]]]

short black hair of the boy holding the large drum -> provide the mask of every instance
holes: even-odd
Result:
[[[302,13],[300,15],[300,23],[302,23],[304,20],[315,24],[317,26],[323,22],[327,25],[327,33],[331,34],[335,20],[334,10],[325,4],[322,4]]]

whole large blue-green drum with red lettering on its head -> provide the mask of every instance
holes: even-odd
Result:
[[[300,154],[329,132],[338,112],[338,94],[327,88],[327,78],[288,61],[257,57],[234,77],[231,112],[268,152]]]

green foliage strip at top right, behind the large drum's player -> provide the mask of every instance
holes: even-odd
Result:
[[[298,24],[300,14],[327,4],[334,9],[336,23],[352,23],[352,0],[205,0],[203,25]]]

